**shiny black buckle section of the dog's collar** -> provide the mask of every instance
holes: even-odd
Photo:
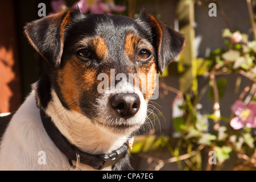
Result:
[[[101,170],[105,167],[113,166],[114,164],[116,164],[120,159],[122,159],[127,154],[128,148],[129,148],[128,144],[125,143],[121,148],[114,150],[110,154],[98,155],[98,158],[100,158],[101,160],[104,160],[104,162],[102,163],[101,167],[98,168],[98,170]]]

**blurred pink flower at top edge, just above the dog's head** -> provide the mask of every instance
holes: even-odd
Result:
[[[92,14],[102,14],[104,9],[102,8],[102,0],[80,0],[73,5],[73,9],[79,9],[83,14],[90,11]]]

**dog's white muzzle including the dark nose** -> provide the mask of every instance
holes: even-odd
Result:
[[[119,84],[97,98],[95,123],[114,133],[133,132],[141,127],[147,117],[147,103],[139,89],[131,84]]]

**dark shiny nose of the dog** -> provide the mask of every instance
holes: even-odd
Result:
[[[112,108],[123,118],[130,118],[137,113],[141,101],[135,93],[119,93],[110,98]]]

